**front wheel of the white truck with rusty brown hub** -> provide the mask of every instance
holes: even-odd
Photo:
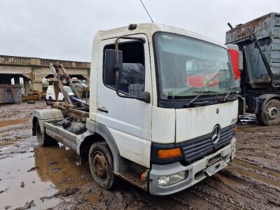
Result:
[[[110,189],[115,177],[113,174],[113,158],[106,142],[94,142],[90,147],[88,158],[94,181],[102,188]]]

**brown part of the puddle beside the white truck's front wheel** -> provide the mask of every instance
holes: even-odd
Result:
[[[35,167],[43,181],[51,181],[58,190],[82,186],[92,181],[87,165],[78,165],[76,153],[61,144],[34,148]]]

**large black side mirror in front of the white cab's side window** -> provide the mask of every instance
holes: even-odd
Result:
[[[118,85],[119,80],[116,80],[116,68],[122,69],[122,67],[123,52],[118,51],[118,66],[116,66],[116,50],[105,50],[104,83],[106,85]]]

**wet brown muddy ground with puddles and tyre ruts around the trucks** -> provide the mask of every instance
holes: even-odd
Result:
[[[44,107],[0,106],[0,209],[280,209],[280,126],[240,125],[228,167],[181,193],[154,197],[122,180],[103,190],[75,153],[39,147],[29,116]]]

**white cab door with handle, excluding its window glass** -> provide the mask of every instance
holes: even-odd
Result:
[[[147,37],[144,34],[137,37]],[[103,55],[104,46],[114,43],[116,38],[102,41],[99,55]],[[125,40],[127,41],[127,40]],[[145,51],[145,91],[151,88],[151,66],[148,43],[144,43]],[[141,165],[150,166],[151,145],[151,116],[152,105],[137,99],[126,99],[119,97],[115,90],[106,87],[103,83],[103,57],[99,56],[98,80],[97,80],[97,108],[106,108],[108,113],[97,110],[96,121],[105,125],[110,131],[120,154],[134,162],[141,161]],[[148,144],[147,144],[148,142]],[[149,148],[149,150],[147,150]],[[144,158],[145,156],[145,158]],[[140,160],[140,159],[141,160]]]

